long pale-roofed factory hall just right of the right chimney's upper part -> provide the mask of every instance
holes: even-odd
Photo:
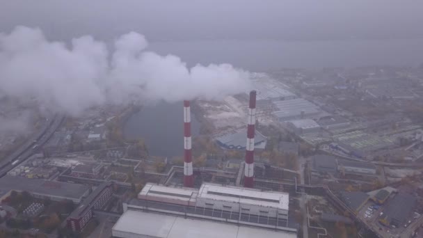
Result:
[[[272,103],[276,107],[276,110],[273,111],[273,116],[278,118],[280,122],[295,119],[317,118],[322,113],[319,106],[316,106],[302,98],[276,101]]]

